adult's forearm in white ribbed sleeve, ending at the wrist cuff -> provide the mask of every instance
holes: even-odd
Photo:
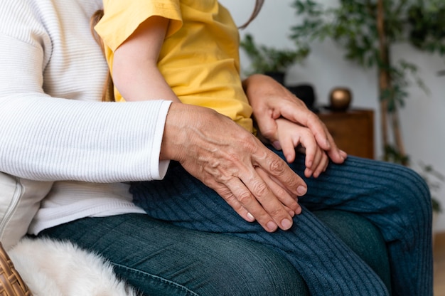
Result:
[[[159,150],[169,102],[80,102],[29,94],[1,97],[0,105],[0,171],[41,181],[162,177]]]

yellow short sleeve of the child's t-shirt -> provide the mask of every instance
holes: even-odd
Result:
[[[166,37],[171,36],[182,26],[180,0],[104,0],[104,16],[95,26],[95,31],[106,46],[115,51],[151,16],[171,20]]]

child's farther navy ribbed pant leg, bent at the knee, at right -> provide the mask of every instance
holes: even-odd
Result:
[[[304,157],[291,166],[304,167]],[[358,213],[380,229],[387,242],[394,295],[432,295],[431,197],[412,169],[348,157],[318,179],[306,179],[299,199],[310,210],[336,208]]]

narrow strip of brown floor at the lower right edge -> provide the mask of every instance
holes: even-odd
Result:
[[[445,296],[445,232],[434,238],[434,296]]]

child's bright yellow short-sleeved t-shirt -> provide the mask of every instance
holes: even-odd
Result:
[[[252,132],[252,108],[240,79],[240,36],[216,0],[104,0],[95,30],[110,69],[113,52],[150,16],[170,20],[158,68],[181,102],[210,107]],[[115,97],[122,100],[117,90]]]

